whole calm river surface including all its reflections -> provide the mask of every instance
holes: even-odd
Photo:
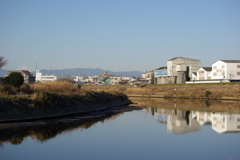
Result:
[[[132,99],[141,110],[0,128],[0,160],[240,159],[240,102]]]

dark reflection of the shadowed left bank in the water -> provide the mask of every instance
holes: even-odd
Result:
[[[128,111],[129,108],[126,109],[127,110],[125,111]],[[132,107],[132,110],[134,109],[136,108]],[[59,121],[55,120],[46,125],[33,123],[33,126],[1,129],[0,143],[8,141],[12,144],[20,144],[27,136],[31,136],[33,139],[43,142],[56,137],[62,132],[72,131],[77,128],[88,129],[99,121],[104,122],[106,120],[114,119],[116,116],[119,116],[121,112],[124,112],[124,110],[106,111],[102,116],[99,115],[95,118],[82,119],[81,117],[76,117],[76,119],[74,119],[74,117],[70,117],[70,120],[67,118]]]

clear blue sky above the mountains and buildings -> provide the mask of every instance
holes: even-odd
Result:
[[[0,56],[10,70],[240,60],[240,0],[0,0]]]

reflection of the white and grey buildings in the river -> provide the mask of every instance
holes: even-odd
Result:
[[[240,132],[240,114],[211,113],[202,111],[170,110],[149,108],[145,110],[160,123],[167,124],[167,130],[177,134],[200,130],[202,125],[212,124],[217,133]]]

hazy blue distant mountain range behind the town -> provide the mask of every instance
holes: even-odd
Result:
[[[64,76],[64,75],[86,75],[86,76],[95,76],[101,75],[104,72],[108,72],[114,76],[128,76],[128,77],[141,77],[144,72],[140,71],[126,71],[126,72],[113,72],[110,70],[104,70],[101,68],[73,68],[73,69],[54,69],[54,70],[47,70],[43,69],[40,70],[43,74],[55,74],[57,76]],[[0,70],[0,76],[3,76],[7,73],[7,70]],[[36,75],[36,71],[31,72],[33,75]]]

